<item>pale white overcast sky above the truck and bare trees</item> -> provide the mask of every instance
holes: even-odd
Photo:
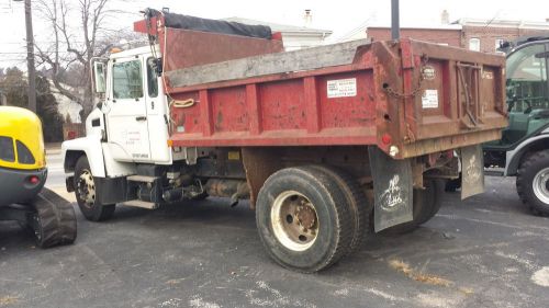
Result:
[[[77,0],[68,0],[77,3]],[[313,27],[334,31],[333,37],[345,35],[363,24],[390,25],[391,1],[352,0],[134,0],[121,3],[111,0],[127,13],[111,21],[110,27],[131,27],[139,19],[138,11],[152,7],[170,8],[171,12],[201,18],[220,19],[239,16],[269,22],[303,25],[303,11],[311,9]],[[542,22],[549,19],[547,0],[401,0],[401,25],[434,25],[440,23],[440,13],[448,10],[450,22],[461,18],[491,20],[526,20]],[[75,14],[78,18],[78,14]],[[0,67],[25,61],[25,24],[22,2],[0,0]],[[34,33],[37,42],[47,42],[47,24],[34,14]]]

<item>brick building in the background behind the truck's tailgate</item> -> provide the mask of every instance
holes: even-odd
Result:
[[[549,20],[546,22],[525,22],[461,19],[451,24],[404,26],[401,28],[401,37],[411,37],[483,53],[495,53],[502,41],[539,34],[549,34]],[[368,26],[360,31],[354,31],[350,35],[344,36],[341,41],[366,37],[373,41],[391,39],[391,28],[386,26]]]

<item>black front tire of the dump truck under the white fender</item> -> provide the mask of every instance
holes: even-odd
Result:
[[[80,208],[80,212],[82,213],[83,217],[86,217],[86,219],[91,221],[104,221],[112,217],[112,215],[114,214],[115,205],[100,204],[98,202],[99,199],[98,196],[96,196],[92,206],[86,205],[86,202],[82,198],[80,198],[80,195],[78,194],[78,179],[80,178],[80,175],[83,173],[85,170],[87,170],[91,174],[88,158],[86,156],[82,156],[78,159],[75,167],[75,195],[76,195],[76,201],[78,203],[78,207]],[[93,179],[93,183],[97,187],[96,179]]]

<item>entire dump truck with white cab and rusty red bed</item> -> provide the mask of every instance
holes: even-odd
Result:
[[[97,58],[87,135],[63,144],[83,216],[116,204],[249,199],[266,250],[300,272],[369,232],[425,223],[438,179],[483,190],[505,59],[412,39],[283,52],[267,26],[147,10],[147,46]]]

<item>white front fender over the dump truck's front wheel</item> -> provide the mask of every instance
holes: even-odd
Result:
[[[61,145],[63,167],[65,173],[75,172],[75,166],[81,156],[88,157],[93,176],[105,178],[104,158],[100,135],[64,141]]]

